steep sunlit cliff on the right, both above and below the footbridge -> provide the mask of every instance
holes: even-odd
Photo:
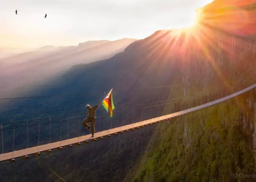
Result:
[[[209,11],[218,12],[218,16],[223,12],[220,9]],[[251,18],[252,14],[247,13],[248,19]],[[222,13],[218,18],[223,20],[225,16]],[[255,83],[256,44],[250,34],[250,23],[244,24],[244,29],[237,23],[239,31],[234,31],[229,22],[226,28],[220,29],[224,21],[220,22],[215,20],[215,26],[202,22],[196,31],[185,35],[190,43],[181,41],[186,51],[179,57],[184,84],[180,96],[242,88]],[[173,96],[174,93],[170,93],[170,97]],[[180,119],[161,123],[139,167],[134,170],[133,181],[232,181],[236,180],[234,173],[255,174],[255,130],[255,89]]]

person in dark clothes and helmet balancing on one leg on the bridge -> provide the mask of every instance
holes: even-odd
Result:
[[[99,103],[100,104],[100,103]],[[92,131],[92,137],[94,136],[94,124],[95,124],[95,110],[99,106],[99,104],[91,107],[89,104],[86,105],[86,108],[88,112],[85,114],[89,113],[89,116],[83,120],[83,125],[86,129],[90,129]],[[91,126],[89,126],[87,123],[91,122]]]

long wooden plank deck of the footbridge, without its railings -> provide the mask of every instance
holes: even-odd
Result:
[[[52,149],[62,149],[62,147],[64,147],[64,146],[69,146],[69,145],[73,145],[73,144],[80,145],[81,142],[87,143],[90,140],[94,141],[96,139],[101,139],[102,137],[109,137],[110,135],[113,135],[113,134],[116,135],[117,133],[122,133],[124,131],[132,130],[132,129],[138,128],[138,127],[143,127],[148,124],[153,124],[153,123],[158,123],[160,121],[170,120],[172,118],[175,118],[175,117],[187,114],[187,113],[195,112],[200,109],[204,109],[206,107],[218,104],[218,103],[228,100],[230,98],[234,98],[234,97],[236,97],[246,91],[249,91],[255,87],[256,87],[256,84],[253,84],[250,87],[245,88],[244,90],[238,91],[238,92],[231,94],[229,96],[226,96],[224,98],[220,98],[218,100],[214,100],[212,102],[209,102],[209,103],[206,103],[206,104],[203,104],[200,106],[196,106],[196,107],[193,107],[190,109],[186,109],[186,110],[183,110],[180,112],[176,112],[176,113],[160,116],[157,118],[152,118],[149,120],[144,120],[144,121],[140,121],[137,123],[133,123],[133,124],[97,132],[94,134],[94,137],[91,137],[91,134],[84,135],[84,136],[80,136],[80,137],[76,137],[76,138],[72,138],[72,139],[68,139],[68,140],[63,140],[63,141],[59,141],[59,142],[54,142],[54,143],[49,143],[49,144],[45,144],[45,145],[39,145],[36,147],[31,147],[28,149],[22,149],[22,150],[17,150],[17,151],[13,151],[13,152],[0,154],[0,161],[9,160],[11,162],[14,162],[15,158],[18,158],[18,157],[28,158],[28,155],[31,155],[31,154],[40,155],[40,152],[43,152],[43,151],[47,152]]]

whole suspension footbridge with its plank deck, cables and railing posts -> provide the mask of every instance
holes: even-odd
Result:
[[[64,122],[63,120],[61,121],[58,121],[57,123],[60,123],[60,138],[58,139],[58,141],[56,142],[51,142],[51,127],[52,125],[54,124],[53,122],[50,122],[50,123],[39,123],[39,124],[36,124],[36,125],[28,125],[28,122],[27,122],[27,126],[18,126],[18,127],[13,127],[13,128],[3,128],[2,124],[1,124],[1,143],[2,143],[2,154],[0,154],[0,162],[15,162],[16,159],[28,159],[28,158],[31,158],[31,157],[36,157],[36,156],[40,156],[41,153],[49,153],[49,152],[52,152],[53,150],[55,151],[58,151],[58,150],[62,150],[64,148],[71,148],[73,146],[79,146],[79,145],[82,145],[82,144],[86,144],[86,143],[89,143],[89,142],[94,142],[94,141],[97,141],[97,140],[101,140],[103,138],[108,138],[108,137],[111,137],[112,135],[118,135],[118,134],[122,134],[122,133],[125,133],[125,132],[129,132],[129,131],[133,131],[135,129],[139,129],[141,127],[145,127],[145,126],[149,126],[149,125],[152,125],[152,124],[157,124],[159,122],[162,122],[162,121],[167,121],[167,120],[171,120],[173,118],[177,118],[179,116],[182,116],[182,115],[185,115],[185,114],[188,114],[188,113],[192,113],[192,112],[196,112],[198,110],[201,110],[201,109],[204,109],[204,108],[207,108],[209,106],[213,106],[213,105],[216,105],[218,103],[221,103],[223,101],[226,101],[228,99],[231,99],[231,98],[235,98],[236,96],[239,96],[247,91],[250,91],[252,89],[256,88],[256,84],[252,84],[251,86],[244,86],[243,88],[242,87],[239,87],[239,88],[233,88],[232,90],[229,90],[229,91],[223,91],[223,92],[218,92],[218,93],[215,93],[215,94],[212,94],[210,97],[208,96],[207,99],[204,99],[204,100],[200,100],[200,103],[197,104],[196,106],[196,102],[184,102],[181,104],[181,102],[170,102],[170,103],[164,103],[164,110],[163,110],[163,113],[165,115],[162,115],[162,116],[158,116],[158,117],[154,117],[153,115],[153,107],[154,106],[145,106],[145,107],[142,107],[140,108],[141,109],[141,118],[139,121],[134,121],[134,115],[133,115],[133,111],[132,111],[132,114],[129,114],[129,115],[132,115],[132,119],[127,119],[129,121],[131,121],[130,123],[125,123],[124,122],[124,112],[122,112],[122,117],[118,117],[115,124],[117,127],[113,127],[113,122],[111,120],[111,126],[108,128],[106,128],[106,126],[104,125],[103,127],[100,128],[100,116],[98,117],[98,119],[96,120],[96,122],[98,121],[99,125],[98,125],[98,132],[96,132],[94,134],[94,137],[91,137],[91,134],[89,135],[85,135],[84,133],[83,134],[80,134],[79,133],[79,126],[81,126],[81,122],[78,120],[78,122],[76,122],[76,124],[74,125],[76,129],[76,137],[72,137],[75,136],[74,135],[74,128],[72,129],[71,127],[71,124],[72,123],[69,123],[68,121],[70,120],[74,120],[74,119],[68,119],[67,120],[67,124],[66,124],[66,130],[65,132],[67,132],[66,134],[66,138],[63,137],[63,135],[61,135],[61,133],[63,132],[61,130],[61,123]],[[157,108],[160,106],[160,105],[156,105]],[[145,110],[148,110],[148,112],[145,112]],[[157,109],[158,111],[158,109]],[[145,113],[146,113],[146,117],[147,119],[145,119]],[[138,118],[138,114],[137,114],[137,118]],[[81,119],[81,118],[78,118],[78,119]],[[77,120],[77,119],[75,119]],[[74,122],[73,122],[74,123]],[[49,141],[45,141],[44,142],[40,142],[40,131],[41,133],[43,132],[44,136],[46,135],[45,134],[45,131],[48,131],[49,129],[47,129],[46,127],[44,127],[44,129],[42,129],[43,125],[49,125],[50,126],[50,137],[49,137]],[[119,126],[118,126],[119,125]],[[30,143],[30,146],[29,146],[29,133],[31,133],[31,131],[29,132],[29,127],[33,127],[32,128],[32,132],[34,132],[34,144],[32,144],[31,146],[31,143]],[[40,130],[40,127],[41,127],[41,130]],[[64,126],[63,126],[64,127]],[[20,129],[24,129],[23,132],[22,130]],[[38,130],[36,131],[35,128],[38,128]],[[10,130],[13,131],[13,136],[11,138],[10,136]],[[20,146],[21,149],[16,149],[16,145],[15,145],[15,141],[18,139],[21,141],[23,141],[24,143],[24,138],[22,136],[17,136],[15,137],[15,130],[19,130],[20,132],[23,133],[23,135],[25,136],[24,133],[26,133],[27,135],[27,146],[26,147],[23,147],[24,149],[22,149],[22,146]],[[6,134],[6,140],[4,140],[4,132],[7,132]],[[24,132],[26,131],[26,132]],[[35,144],[35,132],[37,132],[37,143]],[[56,133],[56,132],[53,132],[53,133]],[[42,135],[42,134],[41,134]],[[61,137],[62,136],[62,137]],[[45,139],[45,137],[44,137]],[[26,139],[25,139],[26,140]],[[52,138],[53,140],[53,138]],[[55,138],[56,140],[56,138]],[[4,151],[4,143],[8,143],[8,146],[11,146],[12,145],[12,151]],[[17,143],[17,142],[16,142]],[[19,142],[18,142],[19,143]],[[45,144],[44,144],[45,143]],[[17,145],[21,145],[21,144],[17,144]],[[34,145],[34,146],[33,146]]]

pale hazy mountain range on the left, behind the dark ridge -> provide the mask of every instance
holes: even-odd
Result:
[[[0,95],[47,81],[73,65],[110,58],[124,51],[134,41],[136,39],[125,38],[115,41],[87,41],[68,47],[44,46],[4,58],[0,60],[0,83],[3,85]]]

